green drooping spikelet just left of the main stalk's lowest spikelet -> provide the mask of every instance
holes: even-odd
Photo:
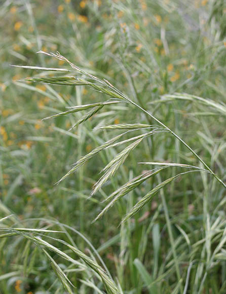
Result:
[[[110,194],[105,200],[111,200],[103,210],[97,215],[97,217],[93,220],[93,222],[96,222],[98,218],[100,218],[110,207],[112,207],[119,199],[121,199],[123,196],[128,194],[130,191],[137,188],[142,182],[144,182],[146,179],[156,175],[166,167],[157,168],[154,170],[147,171],[143,174],[138,175],[137,177],[133,178],[132,180],[128,181],[125,185],[120,187],[118,190]]]

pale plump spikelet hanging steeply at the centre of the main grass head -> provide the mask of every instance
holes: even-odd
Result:
[[[125,148],[122,152],[120,152],[114,159],[112,159],[102,171],[105,171],[103,176],[95,183],[93,187],[93,191],[90,194],[90,197],[92,197],[102,186],[103,184],[111,178],[115,172],[118,170],[118,168],[125,162],[126,158],[130,154],[130,152],[142,141],[142,138],[139,138],[127,148]]]

